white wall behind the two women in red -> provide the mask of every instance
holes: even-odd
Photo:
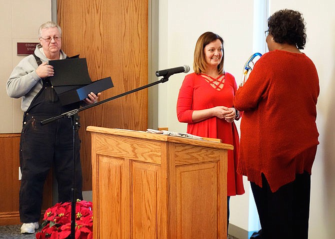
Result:
[[[307,44],[303,51],[316,65],[320,80],[317,104],[317,127],[320,145],[312,168],[310,239],[329,239],[335,234],[335,2],[326,0],[273,0],[271,14],[291,8],[300,11],[306,21]],[[227,72],[236,81],[252,53],[253,1],[159,1],[159,69],[184,64],[192,68],[197,38],[206,31],[219,34],[224,40]],[[184,74],[176,74],[159,85],[158,126],[173,131],[186,131],[186,124],[176,119],[175,105]],[[292,88],[294,91],[294,88]],[[248,222],[248,183],[246,194],[231,199],[230,223],[252,230]]]

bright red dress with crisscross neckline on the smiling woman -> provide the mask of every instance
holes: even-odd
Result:
[[[201,75],[191,73],[185,79],[179,90],[177,100],[177,118],[180,122],[187,123],[187,133],[218,138],[222,143],[231,144],[233,150],[228,150],[227,161],[227,195],[240,195],[244,193],[242,176],[236,173],[239,153],[239,137],[235,124],[224,119],[211,117],[193,123],[194,110],[203,110],[215,106],[232,107],[233,98],[237,90],[235,78],[225,73],[222,90],[215,90]]]

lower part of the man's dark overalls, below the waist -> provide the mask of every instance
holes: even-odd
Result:
[[[58,184],[58,202],[70,201],[73,168],[73,131],[71,119],[64,118],[41,125],[47,116],[27,114],[20,138],[19,213],[23,223],[40,219],[42,192],[46,176],[53,166]],[[82,199],[80,142],[76,137],[76,189]]]

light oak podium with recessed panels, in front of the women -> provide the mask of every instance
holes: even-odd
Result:
[[[93,238],[227,238],[233,146],[88,126]]]

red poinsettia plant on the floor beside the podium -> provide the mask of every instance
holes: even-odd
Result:
[[[65,239],[71,234],[71,202],[56,203],[43,217],[37,239]],[[77,199],[75,204],[75,238],[93,238],[92,202]]]

